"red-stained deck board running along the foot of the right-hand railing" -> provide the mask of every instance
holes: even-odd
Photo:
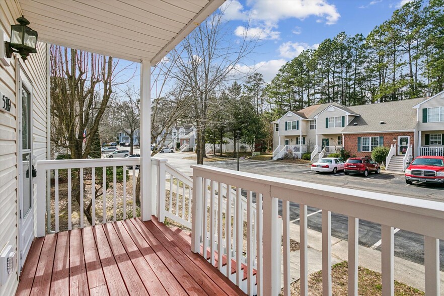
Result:
[[[190,245],[187,244],[187,242],[184,241],[182,237],[174,233],[163,223],[160,223],[155,216],[152,217],[151,223],[145,222],[145,225],[150,230],[152,229],[152,226],[156,226],[157,233],[164,234],[165,244],[167,244],[166,240],[169,240],[171,244],[179,248],[185,256],[187,256],[190,260],[192,260],[195,266],[197,266],[202,271],[203,274],[219,275],[219,276],[211,276],[211,279],[217,286],[221,287],[221,289],[223,289],[226,293],[244,294],[242,290],[239,289],[238,286],[236,286],[230,279],[225,277],[225,275],[222,275],[218,270],[213,268],[211,264],[207,262],[202,256],[193,253],[191,251]],[[153,229],[153,231],[155,230]]]

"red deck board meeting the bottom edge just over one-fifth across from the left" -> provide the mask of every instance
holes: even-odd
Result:
[[[105,275],[103,274],[100,257],[96,247],[93,228],[87,227],[82,230],[83,250],[85,255],[88,288],[90,293],[108,295]]]

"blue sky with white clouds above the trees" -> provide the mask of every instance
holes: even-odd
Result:
[[[270,82],[279,68],[307,48],[317,48],[339,32],[366,36],[393,12],[411,0],[227,0],[221,9],[233,34],[260,36],[255,53],[239,65],[241,70],[262,73]],[[230,31],[229,31],[230,32]],[[120,66],[131,64],[120,61]],[[133,64],[138,67],[138,64]],[[132,73],[132,71],[131,71]],[[139,70],[132,83],[138,87]],[[152,78],[152,81],[154,78]],[[155,96],[154,90],[152,96]]]

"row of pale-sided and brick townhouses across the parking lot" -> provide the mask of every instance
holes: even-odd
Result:
[[[337,153],[343,147],[351,155],[369,156],[374,147],[390,147],[387,164],[402,170],[418,155],[444,154],[444,92],[429,98],[346,107],[318,104],[288,111],[271,123],[273,158],[292,154],[311,160]]]

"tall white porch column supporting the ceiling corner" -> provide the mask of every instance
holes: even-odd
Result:
[[[151,63],[140,64],[140,217],[151,220]]]

